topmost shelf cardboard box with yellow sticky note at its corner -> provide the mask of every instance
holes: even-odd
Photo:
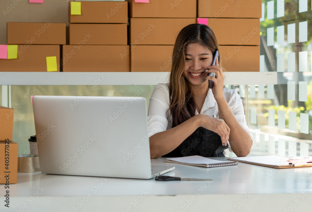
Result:
[[[81,2],[81,15],[70,11],[70,23],[128,23],[128,2]]]

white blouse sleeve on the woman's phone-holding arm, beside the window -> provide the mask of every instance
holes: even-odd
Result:
[[[249,133],[249,135],[251,137],[252,144],[254,144],[255,138],[253,137],[252,132],[249,130],[247,123],[246,123],[246,116],[244,114],[244,107],[243,107],[243,103],[242,103],[243,100],[238,95],[236,90],[235,90],[235,94],[231,98],[231,101],[234,101],[229,105],[231,106],[231,109],[232,109],[235,117],[237,118],[237,120],[241,124],[241,126],[243,126],[246,129],[246,131]],[[231,147],[229,147],[229,150],[231,152],[233,152]]]

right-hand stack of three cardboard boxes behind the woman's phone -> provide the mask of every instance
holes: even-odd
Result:
[[[198,0],[197,23],[208,24],[227,71],[260,70],[261,0]]]

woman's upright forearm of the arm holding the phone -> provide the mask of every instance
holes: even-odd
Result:
[[[219,118],[230,127],[229,143],[238,157],[245,157],[250,153],[252,140],[246,129],[241,126],[225,98],[216,99],[219,107]]]

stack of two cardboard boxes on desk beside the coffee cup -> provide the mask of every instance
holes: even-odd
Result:
[[[14,109],[0,106],[0,184],[17,182],[18,144],[12,141]],[[4,194],[5,196],[5,194]]]

